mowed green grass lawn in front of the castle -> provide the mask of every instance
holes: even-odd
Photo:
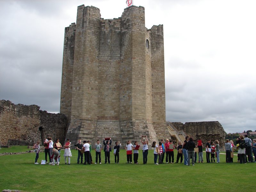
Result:
[[[26,151],[26,147],[10,148],[12,152]],[[10,149],[1,149],[0,153]],[[15,151],[17,150],[17,151]],[[11,151],[10,151],[11,152]],[[125,164],[126,151],[120,150],[120,164],[115,164],[113,152],[111,164],[77,164],[77,151],[71,150],[71,164],[65,165],[64,151],[61,151],[60,165],[34,164],[35,153],[0,156],[0,191],[16,189],[22,191],[254,191],[256,163],[226,163],[220,155],[220,164],[196,163],[154,164],[153,150],[149,150],[148,163],[143,164],[142,150],[139,150],[140,164]],[[174,151],[176,160],[177,150]],[[38,162],[44,160],[39,154]],[[95,162],[95,152],[92,151]],[[197,159],[198,160],[198,159]],[[164,161],[165,162],[165,161]],[[239,178],[239,179],[238,179]]]

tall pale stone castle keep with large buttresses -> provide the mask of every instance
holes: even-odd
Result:
[[[163,25],[147,29],[141,6],[106,20],[96,7],[78,6],[76,24],[65,28],[60,113],[75,143],[170,137]]]

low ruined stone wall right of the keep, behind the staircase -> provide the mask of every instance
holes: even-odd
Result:
[[[210,122],[189,122],[189,123],[172,123],[178,130],[183,130],[187,135],[193,137],[194,141],[202,140],[205,146],[208,139],[218,140],[220,147],[224,148],[226,132],[218,121]]]

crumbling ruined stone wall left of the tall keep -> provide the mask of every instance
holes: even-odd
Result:
[[[42,144],[46,136],[64,143],[67,118],[39,108],[0,100],[1,145],[34,145],[38,140]]]

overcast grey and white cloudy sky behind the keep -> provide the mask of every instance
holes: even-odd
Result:
[[[60,112],[65,27],[77,6],[121,17],[126,0],[0,0],[0,100]],[[256,1],[134,0],[164,25],[166,121],[256,130]]]

